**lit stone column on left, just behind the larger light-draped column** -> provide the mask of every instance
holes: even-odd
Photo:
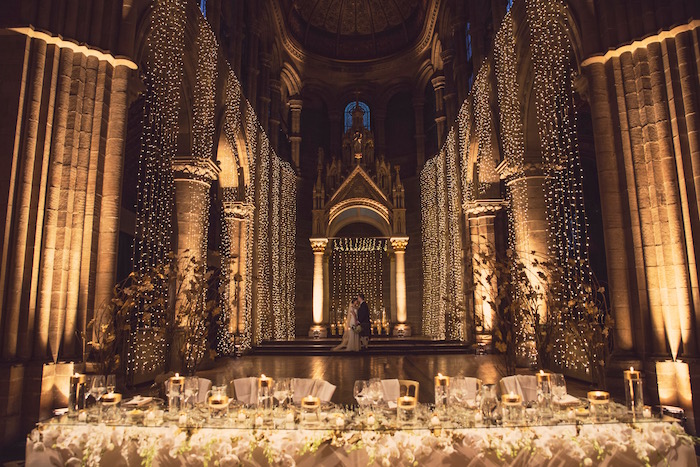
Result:
[[[245,288],[246,277],[246,227],[252,219],[255,206],[243,201],[224,202],[224,222],[229,236],[229,264],[222,264],[226,270],[225,285],[228,289],[229,332],[238,334],[245,326]]]

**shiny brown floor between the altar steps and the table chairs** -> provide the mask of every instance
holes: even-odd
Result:
[[[197,372],[214,384],[228,384],[235,378],[265,374],[273,378],[298,377],[324,379],[337,386],[333,402],[355,403],[352,388],[355,380],[369,378],[412,379],[420,383],[419,400],[434,399],[433,377],[438,373],[449,376],[472,376],[485,384],[501,378],[498,358],[494,355],[250,355],[217,360],[214,368]],[[518,371],[528,373],[527,370]],[[588,383],[567,379],[568,392],[585,397]]]

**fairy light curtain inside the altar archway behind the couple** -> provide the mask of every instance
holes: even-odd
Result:
[[[382,238],[333,239],[329,269],[331,271],[330,319],[342,322],[350,302],[358,292],[365,294],[371,319],[381,320],[384,306],[384,280],[388,240]]]

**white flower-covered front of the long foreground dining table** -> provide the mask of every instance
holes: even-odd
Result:
[[[27,466],[454,465],[697,466],[675,423],[523,429],[326,431],[45,424],[30,433]]]

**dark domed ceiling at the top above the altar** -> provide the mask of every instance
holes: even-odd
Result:
[[[370,60],[413,45],[429,0],[285,0],[287,27],[306,50]]]

